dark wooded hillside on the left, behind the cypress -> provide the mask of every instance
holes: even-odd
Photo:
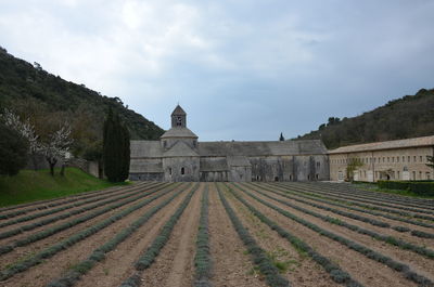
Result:
[[[12,108],[30,118],[42,136],[54,126],[69,121],[75,140],[73,153],[81,155],[102,139],[102,123],[112,107],[130,131],[131,139],[156,140],[163,129],[128,109],[118,97],[99,92],[54,76],[14,57],[0,47],[0,108]]]

